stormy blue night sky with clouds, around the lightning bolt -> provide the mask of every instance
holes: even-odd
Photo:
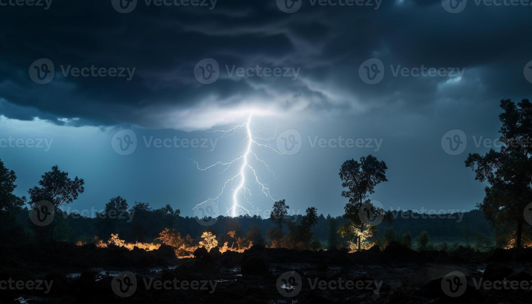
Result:
[[[261,216],[272,198],[290,213],[342,215],[340,165],[368,154],[388,166],[370,196],[386,208],[471,210],[485,185],[465,168],[467,153],[493,147],[502,98],[532,91],[531,6],[10,3],[0,1],[0,158],[21,196],[53,165],[84,178],[71,209],[121,195],[194,215],[240,169],[198,166],[247,147],[245,127],[209,131],[253,112],[253,135],[272,137],[254,153],[275,172],[253,163],[271,194],[250,185]],[[231,206],[230,184],[219,204],[221,214]]]

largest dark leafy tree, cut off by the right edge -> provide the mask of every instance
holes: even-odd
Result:
[[[501,108],[501,150],[491,149],[484,156],[470,153],[465,167],[475,171],[476,180],[490,185],[477,207],[497,233],[514,234],[516,247],[521,247],[525,207],[532,195],[532,104],[528,99],[517,105],[507,99],[501,100]]]

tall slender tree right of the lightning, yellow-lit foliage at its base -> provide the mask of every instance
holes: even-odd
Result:
[[[349,202],[344,207],[344,217],[350,221],[339,229],[340,234],[354,235],[358,239],[358,249],[361,249],[362,236],[369,235],[366,232],[370,225],[369,212],[373,216],[384,216],[385,212],[382,208],[376,208],[373,204],[364,199],[368,198],[370,194],[375,193],[375,186],[381,182],[387,182],[386,179],[386,163],[378,161],[373,155],[361,157],[360,162],[354,159],[346,160],[342,167],[340,167],[339,176],[342,179],[342,187],[348,190],[342,191],[342,196],[349,199]],[[361,215],[368,212],[367,218],[362,218]],[[389,217],[388,217],[389,218]],[[373,232],[371,233],[373,235]]]

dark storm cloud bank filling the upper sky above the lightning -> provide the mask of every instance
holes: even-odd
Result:
[[[471,1],[470,1],[471,2]],[[146,6],[121,14],[111,1],[54,0],[48,10],[0,6],[0,111],[56,124],[194,129],[210,127],[215,111],[268,104],[283,111],[367,112],[383,107],[427,111],[438,102],[526,97],[523,77],[530,39],[528,7],[473,3],[461,13],[440,1],[384,1],[375,6],[311,6],[281,12],[276,2],[222,1],[205,6]],[[377,57],[385,77],[359,77]],[[51,59],[56,76],[46,85],[28,76],[30,64]],[[195,64],[214,58],[222,75],[202,85]],[[63,77],[64,67],[135,68],[120,77]],[[225,65],[293,67],[287,77],[227,77]],[[397,67],[460,68],[461,79],[393,77]],[[214,106],[215,105],[215,106]],[[211,116],[208,122],[200,113]],[[400,112],[397,112],[400,113]],[[176,117],[175,119],[172,119]],[[79,118],[78,120],[58,120]],[[186,118],[186,119],[185,119]],[[185,121],[185,122],[184,122]],[[209,125],[211,124],[211,125]]]

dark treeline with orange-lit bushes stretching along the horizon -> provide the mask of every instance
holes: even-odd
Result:
[[[19,198],[12,193],[16,187],[16,176],[0,161],[0,244],[32,243],[49,239],[105,242],[111,234],[118,234],[120,239],[131,243],[152,242],[161,237],[165,228],[179,233],[188,243],[197,243],[202,234],[209,231],[217,237],[220,244],[253,241],[254,244],[294,249],[348,247],[356,250],[356,237],[367,245],[375,243],[382,247],[389,240],[400,240],[408,232],[414,239],[425,232],[430,235],[431,241],[465,243],[473,242],[479,234],[489,239],[493,239],[494,235],[480,210],[432,218],[412,211],[387,212],[388,219],[383,220],[376,229],[371,228],[375,233],[364,234],[364,231],[359,232],[356,228],[345,232],[345,227],[351,227],[351,221],[345,215],[318,215],[318,210],[313,207],[307,208],[304,215],[288,216],[285,200],[273,204],[270,218],[246,215],[237,218],[219,216],[200,219],[182,217],[180,209],[173,209],[170,204],[154,209],[147,202],[135,201],[130,204],[121,196],[115,196],[105,203],[101,213],[84,217],[74,212],[67,214],[60,208],[67,206],[84,192],[83,179],[71,179],[67,172],[60,171],[57,166],[45,172],[41,178],[38,186],[28,190],[27,202],[25,197]],[[43,201],[48,202],[49,206],[45,207],[54,216],[50,223],[39,226],[28,215],[30,209],[40,211]],[[350,204],[346,205],[346,214],[350,211],[348,207]],[[383,213],[373,211],[373,217]],[[359,217],[357,215],[354,218]],[[349,235],[353,232],[355,237]]]

